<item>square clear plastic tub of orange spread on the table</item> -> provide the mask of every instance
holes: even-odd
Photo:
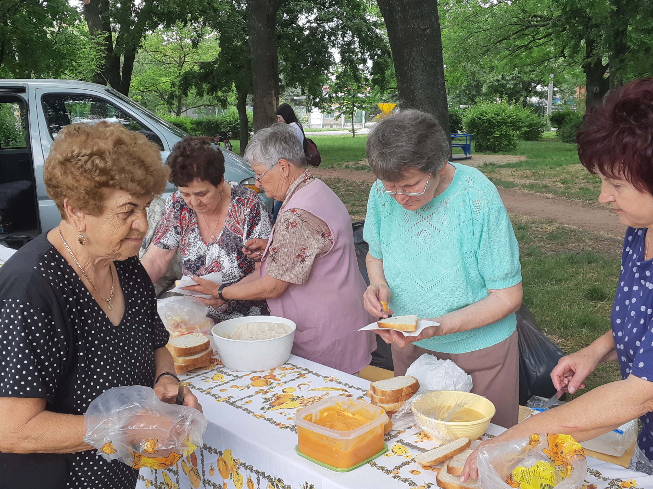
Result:
[[[372,415],[372,421],[351,431],[338,431],[307,420],[317,419],[322,413],[338,406],[352,414],[368,413]],[[358,399],[331,396],[296,413],[299,439],[296,451],[304,458],[332,470],[355,469],[385,452],[383,428],[387,421],[387,414],[378,406]]]

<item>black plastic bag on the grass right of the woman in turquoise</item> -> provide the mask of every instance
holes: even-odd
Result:
[[[519,404],[526,406],[532,396],[549,399],[556,393],[550,374],[565,354],[539,331],[533,313],[524,304],[517,311],[517,334]]]

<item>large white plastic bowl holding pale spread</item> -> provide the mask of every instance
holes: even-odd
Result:
[[[236,327],[242,324],[261,321],[287,324],[293,331],[270,340],[230,340],[221,336],[231,335]],[[270,368],[278,368],[288,361],[293,349],[296,329],[297,325],[290,319],[278,316],[246,316],[217,323],[212,333],[215,349],[225,367],[238,372],[263,372]]]

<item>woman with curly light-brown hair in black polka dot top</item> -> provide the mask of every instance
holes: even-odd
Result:
[[[178,394],[137,258],[165,170],[142,134],[78,124],[54,141],[44,181],[61,224],[0,268],[0,488],[133,488],[135,469],[82,441],[83,415],[112,387]],[[187,388],[184,404],[198,407]]]

